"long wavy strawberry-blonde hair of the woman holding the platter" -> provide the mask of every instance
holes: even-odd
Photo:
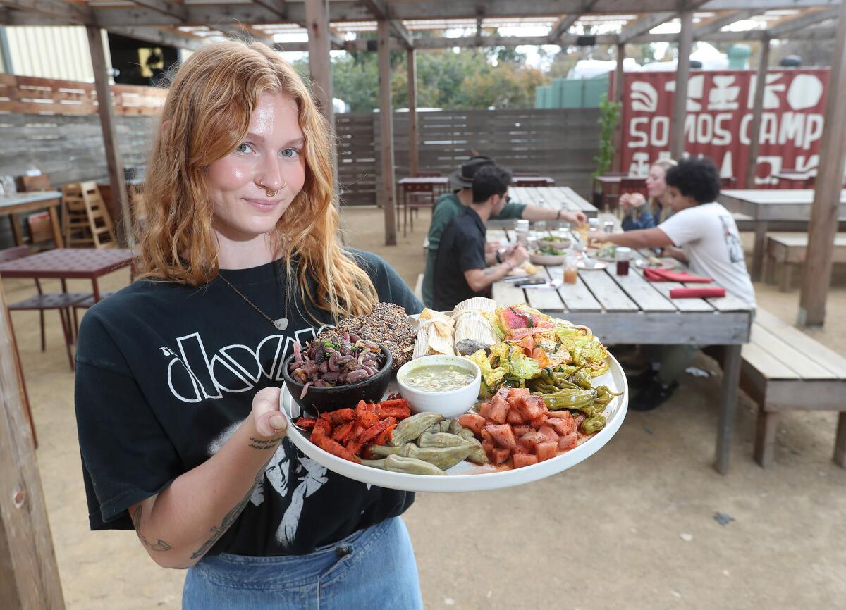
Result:
[[[194,52],[168,80],[147,163],[139,277],[191,286],[217,277],[206,168],[244,139],[260,95],[282,92],[297,104],[305,136],[305,183],[270,235],[283,253],[288,289],[299,290],[312,318],[312,308],[336,321],[369,313],[376,288],[338,237],[332,128],[294,68],[259,42],[226,41]]]

